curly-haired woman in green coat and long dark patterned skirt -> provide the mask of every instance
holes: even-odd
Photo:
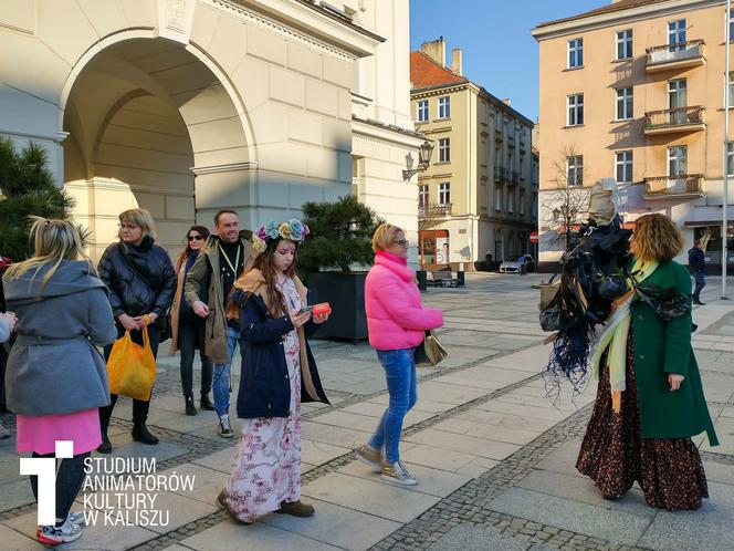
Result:
[[[640,217],[630,239],[631,272],[640,287],[675,289],[688,312],[665,322],[635,292],[622,297],[599,336],[594,413],[576,468],[606,499],[637,480],[650,507],[698,509],[709,497],[692,436],[717,445],[699,365],[691,349],[691,278],[672,259],[683,237],[663,215]]]

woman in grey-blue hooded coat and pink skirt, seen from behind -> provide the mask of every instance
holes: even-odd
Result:
[[[17,414],[19,453],[54,457],[56,440],[73,443],[56,475],[55,524],[40,526],[41,543],[82,536],[83,516],[70,509],[84,480],[84,459],[99,443],[97,408],[109,403],[105,362],[95,346],[115,340],[107,290],[84,254],[86,233],[69,220],[33,218],[35,253],[3,276],[18,314],[8,358],[8,407]],[[31,488],[38,500],[38,477]]]

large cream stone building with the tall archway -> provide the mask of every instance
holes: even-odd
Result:
[[[0,134],[45,146],[95,257],[123,209],[172,252],[350,193],[416,240],[408,0],[9,1],[0,51]]]

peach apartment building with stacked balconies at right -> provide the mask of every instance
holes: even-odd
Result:
[[[721,262],[726,23],[723,0],[618,0],[533,30],[541,260],[560,254],[548,246],[556,222],[543,209],[553,189],[616,177],[626,220],[667,214],[683,228],[685,250],[711,232],[707,260]],[[730,248],[733,232],[730,226]]]

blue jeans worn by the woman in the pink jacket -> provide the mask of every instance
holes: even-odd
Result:
[[[377,424],[369,447],[385,447],[385,461],[390,464],[400,459],[402,420],[418,399],[413,352],[415,349],[377,351],[377,358],[385,370],[390,404]]]

